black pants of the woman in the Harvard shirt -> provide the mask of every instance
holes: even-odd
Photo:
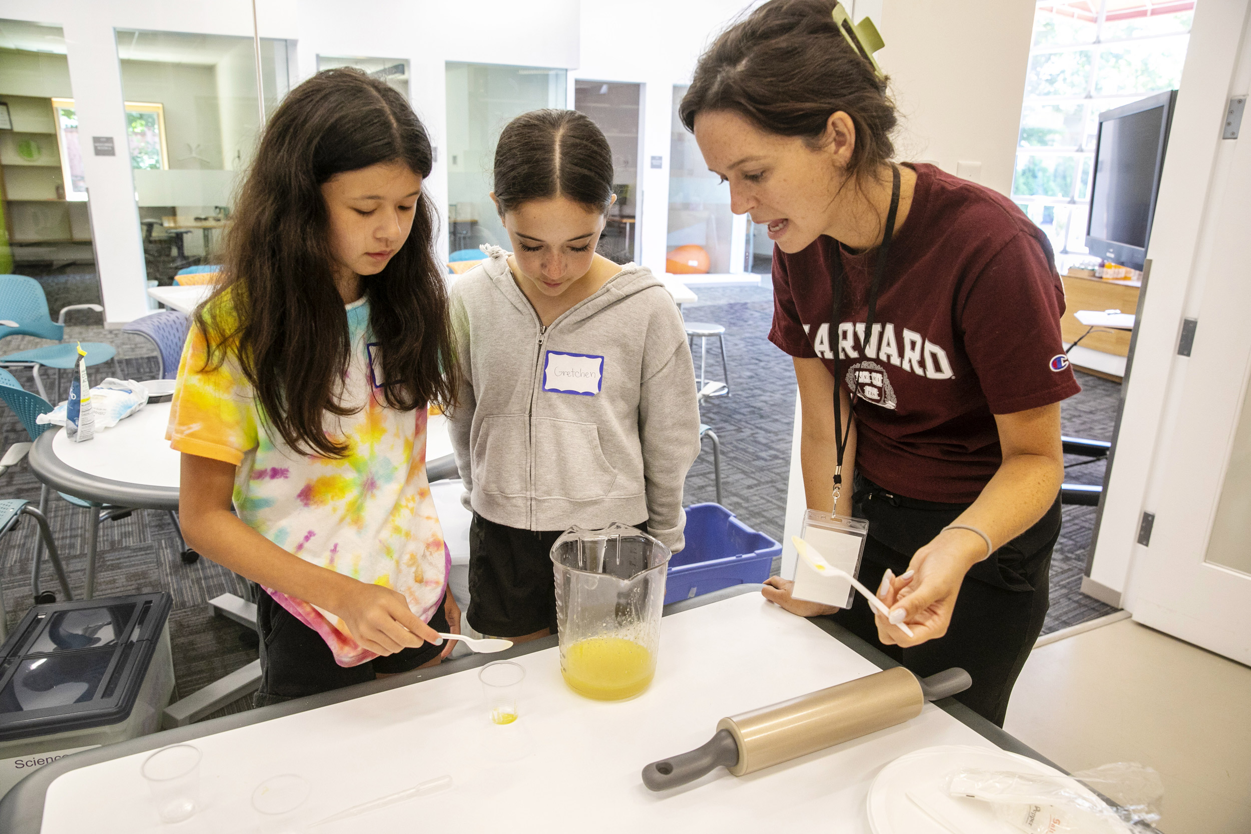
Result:
[[[902,574],[912,554],[967,506],[892,495],[857,475],[853,511],[869,521],[859,580],[877,590],[887,568],[896,576]],[[833,619],[917,675],[951,666],[965,669],[973,685],[956,700],[1003,726],[1012,685],[1042,633],[1050,604],[1051,550],[1060,536],[1060,523],[1057,496],[1037,524],[973,565],[960,588],[947,634],[936,640],[911,649],[882,645],[873,613],[863,600]]]

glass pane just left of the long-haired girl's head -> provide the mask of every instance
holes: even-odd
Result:
[[[149,283],[218,263],[259,134],[251,38],[116,31]],[[286,41],[261,39],[266,111],[288,89]]]

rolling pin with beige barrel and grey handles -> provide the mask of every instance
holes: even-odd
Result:
[[[667,790],[726,766],[736,776],[857,739],[921,714],[927,700],[973,684],[963,669],[917,678],[903,666],[878,671],[772,706],[723,718],[701,748],[643,768],[643,784]]]

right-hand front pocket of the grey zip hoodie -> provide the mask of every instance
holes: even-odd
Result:
[[[594,423],[534,418],[535,498],[589,501],[607,496],[615,481]]]

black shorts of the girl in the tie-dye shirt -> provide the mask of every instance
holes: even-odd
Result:
[[[429,626],[448,630],[443,600],[434,609]],[[340,666],[322,635],[256,588],[256,630],[260,633],[260,689],[255,705],[278,704],[293,698],[340,689],[374,680],[378,674],[410,671],[439,656],[444,646],[424,643],[415,649],[374,658],[359,666]]]

